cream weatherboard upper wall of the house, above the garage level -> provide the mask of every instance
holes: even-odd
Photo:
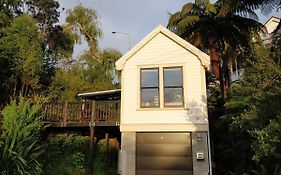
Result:
[[[140,68],[158,66],[183,66],[184,108],[140,108]],[[122,71],[121,131],[128,131],[127,125],[207,124],[205,86],[205,70],[197,56],[157,34]]]

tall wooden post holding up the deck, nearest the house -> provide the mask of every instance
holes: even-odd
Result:
[[[90,121],[90,150],[89,150],[89,175],[93,175],[93,153],[94,153],[94,137],[95,137],[95,114],[96,114],[96,102],[92,102],[91,109],[91,121]]]

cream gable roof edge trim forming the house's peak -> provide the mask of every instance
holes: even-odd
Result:
[[[167,28],[163,27],[162,25],[159,25],[156,27],[151,33],[149,33],[144,39],[142,39],[135,47],[133,47],[131,50],[129,50],[125,55],[123,55],[120,59],[118,59],[115,63],[117,70],[122,70],[124,68],[124,65],[128,59],[130,59],[135,53],[137,53],[142,47],[144,47],[148,42],[150,42],[157,34],[162,33],[184,49],[190,51],[193,53],[199,61],[201,62],[202,66],[209,68],[210,65],[210,57],[190,44],[189,42],[185,41],[175,33],[171,32]]]

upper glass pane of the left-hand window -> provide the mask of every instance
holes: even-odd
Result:
[[[141,86],[158,87],[158,69],[141,69]]]

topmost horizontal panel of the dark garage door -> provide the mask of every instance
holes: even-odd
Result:
[[[188,144],[189,133],[138,133],[137,144]]]

